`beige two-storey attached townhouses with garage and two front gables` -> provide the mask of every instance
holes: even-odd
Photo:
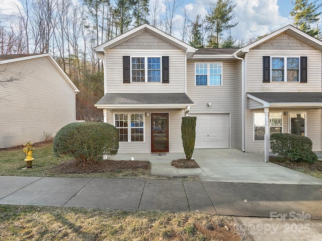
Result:
[[[281,132],[321,151],[322,42],[293,26],[241,49],[195,49],[144,24],[95,51],[105,66],[95,106],[119,129],[119,153],[183,152],[185,115],[197,116],[195,148],[267,160],[269,134]]]

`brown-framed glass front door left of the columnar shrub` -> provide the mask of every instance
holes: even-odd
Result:
[[[169,113],[151,113],[151,152],[169,152]]]

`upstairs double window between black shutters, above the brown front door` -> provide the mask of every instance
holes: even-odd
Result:
[[[161,82],[159,57],[132,57],[131,61],[132,82]]]

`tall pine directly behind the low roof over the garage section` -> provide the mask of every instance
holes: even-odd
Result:
[[[236,4],[232,0],[218,0],[210,5],[206,15],[208,30],[208,47],[219,48],[219,38],[222,32],[235,27],[238,22],[231,23],[235,17],[234,8]]]

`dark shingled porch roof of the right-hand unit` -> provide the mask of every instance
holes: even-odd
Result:
[[[322,92],[256,92],[248,94],[269,103],[322,103]]]

